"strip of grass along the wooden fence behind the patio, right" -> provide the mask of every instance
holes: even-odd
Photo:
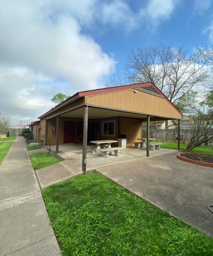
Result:
[[[157,142],[152,142],[152,144],[155,144]],[[168,149],[178,149],[178,143],[173,143],[173,142],[159,142],[162,143],[161,148],[168,148]],[[187,144],[180,143],[180,150],[184,150],[187,147]],[[205,154],[212,154],[213,152],[213,147],[212,146],[199,146],[191,150],[190,152],[195,152],[195,153],[205,153]]]

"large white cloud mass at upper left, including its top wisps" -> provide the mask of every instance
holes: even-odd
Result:
[[[103,86],[115,59],[83,29],[156,27],[176,6],[176,0],[150,0],[133,11],[124,0],[1,0],[0,112],[29,116],[30,110],[35,121],[54,94]]]

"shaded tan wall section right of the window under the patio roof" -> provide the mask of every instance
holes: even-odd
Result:
[[[121,134],[126,134],[127,146],[131,146],[133,141],[141,137],[140,119],[121,118]]]

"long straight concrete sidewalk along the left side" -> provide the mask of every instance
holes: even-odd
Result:
[[[59,256],[23,137],[0,165],[0,256]]]

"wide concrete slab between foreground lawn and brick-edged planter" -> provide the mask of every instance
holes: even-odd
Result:
[[[213,168],[186,163],[177,151],[96,169],[107,178],[213,237]]]

